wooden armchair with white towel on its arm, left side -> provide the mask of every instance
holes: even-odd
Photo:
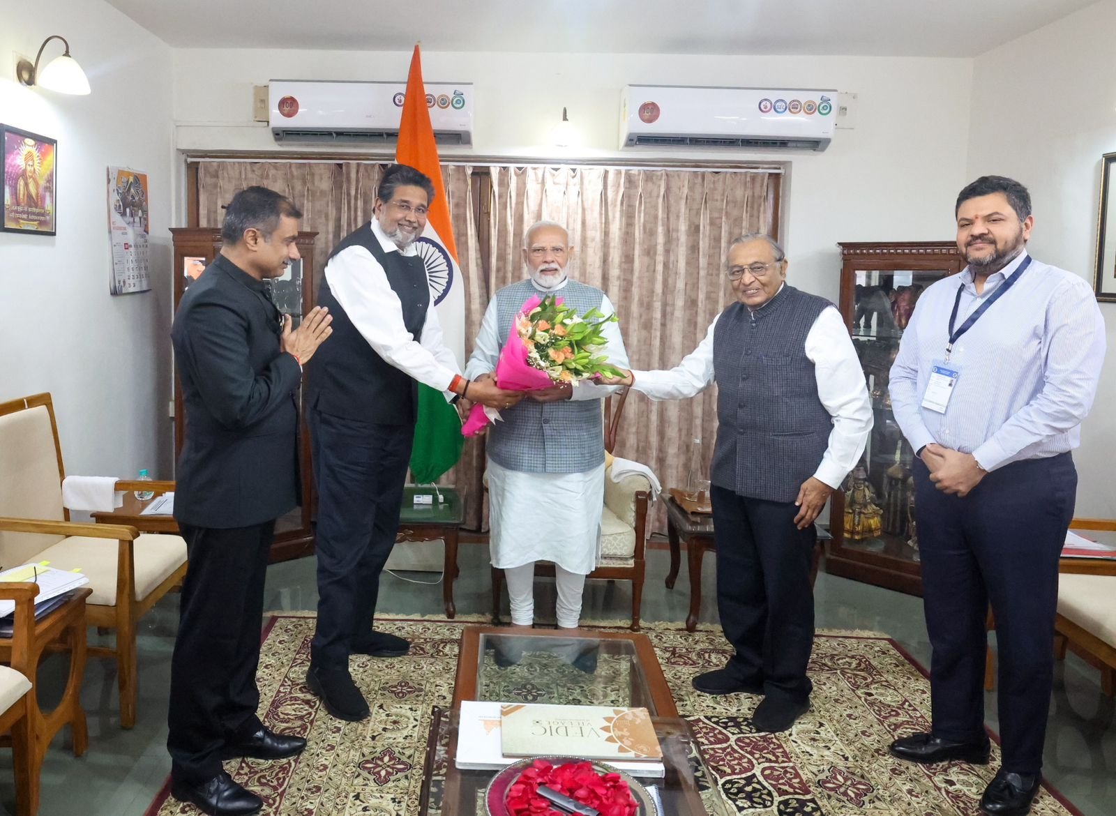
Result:
[[[116,631],[115,647],[88,652],[116,661],[121,727],[132,728],[136,624],[185,576],[186,544],[180,536],[140,535],[134,527],[71,522],[62,507],[64,477],[50,394],[0,403],[0,564],[47,560],[88,576],[87,623]],[[137,489],[134,482],[117,487]],[[138,489],[166,492],[174,483],[145,481]]]

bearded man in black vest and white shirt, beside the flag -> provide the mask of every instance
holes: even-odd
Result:
[[[318,295],[334,318],[334,335],[307,381],[318,488],[318,623],[306,682],[329,713],[348,721],[368,716],[349,654],[396,657],[411,647],[374,631],[373,616],[400,525],[419,383],[451,401],[464,396],[498,409],[521,396],[462,377],[442,342],[414,246],[433,198],[426,175],[405,164],[388,167],[372,221],[334,249]]]

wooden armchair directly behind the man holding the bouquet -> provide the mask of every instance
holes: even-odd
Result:
[[[605,401],[605,450],[609,453],[616,444],[620,414],[628,390]],[[485,486],[487,486],[485,477]],[[643,579],[646,573],[647,503],[651,482],[643,476],[628,476],[614,482],[605,472],[605,506],[600,517],[600,558],[588,579],[632,582],[632,630],[639,630],[639,609],[643,606]],[[540,563],[536,576],[554,576],[554,565]],[[503,570],[492,568],[492,620],[500,622],[500,597],[503,592]]]

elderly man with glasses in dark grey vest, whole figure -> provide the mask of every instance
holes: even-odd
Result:
[[[693,679],[706,694],[762,694],[757,731],[786,731],[809,709],[814,644],[814,520],[864,452],[872,403],[836,307],[786,284],[770,237],[729,247],[737,303],[671,371],[628,372],[615,383],[653,400],[718,385],[710,491],[716,603],[735,654]]]

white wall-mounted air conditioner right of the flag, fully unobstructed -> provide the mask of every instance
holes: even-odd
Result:
[[[824,151],[837,117],[836,90],[628,85],[620,147]]]

